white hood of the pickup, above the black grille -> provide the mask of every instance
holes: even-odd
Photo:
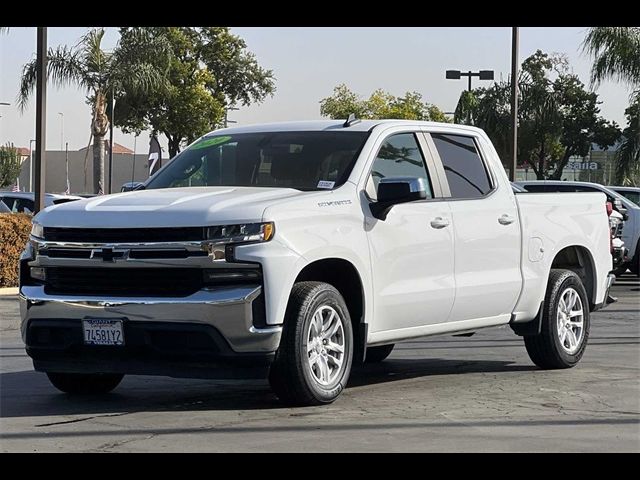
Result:
[[[257,222],[272,202],[303,196],[291,188],[188,187],[103,195],[49,207],[43,226],[69,228],[196,227]]]

